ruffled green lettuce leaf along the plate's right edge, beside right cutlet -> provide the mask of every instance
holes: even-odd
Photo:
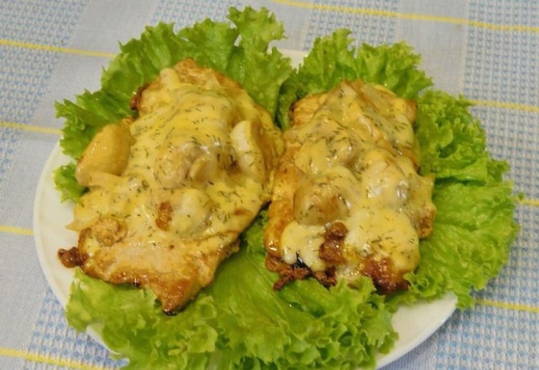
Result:
[[[503,181],[509,166],[490,156],[469,106],[440,91],[419,98],[421,170],[436,176],[438,213],[433,233],[421,242],[419,267],[408,276],[410,289],[396,295],[393,306],[450,291],[459,307],[470,307],[471,292],[483,289],[507,262],[518,231],[512,184]]]

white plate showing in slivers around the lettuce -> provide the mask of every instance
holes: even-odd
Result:
[[[293,50],[283,52],[296,65],[305,55]],[[73,207],[61,203],[60,194],[54,186],[53,171],[68,162],[69,158],[62,154],[56,144],[41,173],[34,201],[34,238],[39,262],[52,291],[64,307],[69,298],[74,271],[60,263],[57,251],[76,245],[77,235],[65,228],[73,217]],[[449,294],[430,303],[401,307],[392,319],[399,339],[391,352],[378,356],[378,367],[397,360],[421,344],[451,316],[455,306],[456,298]],[[92,336],[99,340],[97,336]]]

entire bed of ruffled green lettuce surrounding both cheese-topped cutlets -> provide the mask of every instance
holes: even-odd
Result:
[[[278,291],[272,289],[279,276],[265,267],[263,234],[268,217],[262,210],[239,236],[239,252],[221,264],[212,284],[177,315],[165,315],[151,289],[109,284],[76,269],[67,319],[77,330],[97,331],[108,348],[137,369],[373,368],[380,353],[394,348],[398,334],[391,324],[392,313],[402,303],[454,293],[459,307],[470,307],[471,292],[484,288],[506,262],[517,230],[511,184],[503,180],[507,165],[486,150],[485,134],[469,112],[469,103],[433,90],[418,67],[419,56],[406,44],[355,47],[349,32],[339,30],[317,39],[302,64],[292,70],[287,58],[277,49],[269,49],[270,42],[282,37],[283,26],[267,10],[231,8],[229,19],[232,24],[205,20],[178,32],[159,24],[123,45],[105,70],[100,90],[57,105],[58,114],[66,119],[61,141],[64,152],[79,160],[110,122],[120,122],[115,130],[114,126],[108,129],[118,132],[103,131],[103,136],[121,136],[122,125],[133,125],[130,119],[121,123],[133,116],[131,107],[144,110],[137,98],[132,101],[137,90],[151,83],[161,70],[186,58],[238,82],[277,117],[285,135],[290,110],[308,102],[309,98],[297,103],[305,97],[323,96],[343,81],[360,79],[365,86],[384,86],[375,88],[375,93],[383,93],[387,101],[403,102],[399,104],[407,112],[407,121],[413,121],[413,115],[406,102],[416,103],[416,146],[402,148],[402,161],[411,161],[414,167],[421,164],[419,176],[414,173],[412,178],[422,178],[425,183],[435,178],[432,203],[436,217],[430,235],[419,241],[419,264],[402,276],[408,289],[382,295],[361,274],[354,281],[340,280],[329,288],[315,279],[303,279]],[[308,127],[308,123],[302,125]],[[241,147],[240,140],[237,142]],[[131,151],[136,144],[129,145]],[[394,154],[393,149],[385,150]],[[107,151],[120,156],[123,152],[120,147]],[[346,151],[342,154],[346,156]],[[394,159],[393,154],[389,158]],[[86,167],[115,173],[122,163],[89,163]],[[78,202],[88,191],[76,181],[79,176],[85,181],[84,172],[78,174],[74,163],[58,169],[55,180],[63,198]],[[190,170],[179,173],[189,174]],[[162,180],[172,184],[167,174],[163,171]],[[94,176],[87,177],[94,181]],[[310,198],[304,198],[309,203]],[[418,209],[433,208],[427,202]],[[343,210],[346,212],[340,207],[328,211]],[[161,217],[153,221],[168,225],[167,214],[164,206]],[[312,216],[314,221],[326,217],[323,212]],[[408,220],[413,219],[421,217],[411,215]],[[414,226],[418,236],[429,232],[432,219],[424,219],[428,221],[424,226]],[[122,233],[121,227],[116,230]],[[336,226],[331,231],[332,240],[338,241],[342,229]],[[76,263],[80,256],[72,257]]]

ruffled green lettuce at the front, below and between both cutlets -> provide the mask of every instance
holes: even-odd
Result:
[[[96,330],[133,369],[374,367],[375,354],[389,350],[396,333],[371,281],[328,290],[305,280],[274,291],[277,276],[264,266],[264,224],[259,217],[243,234],[241,252],[176,316],[164,315],[149,291],[78,271],[70,325]]]

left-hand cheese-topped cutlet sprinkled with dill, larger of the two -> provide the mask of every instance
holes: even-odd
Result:
[[[149,287],[170,312],[212,281],[270,200],[283,144],[237,83],[192,60],[134,106],[138,118],[106,126],[79,162],[90,190],[69,227],[87,274]]]

